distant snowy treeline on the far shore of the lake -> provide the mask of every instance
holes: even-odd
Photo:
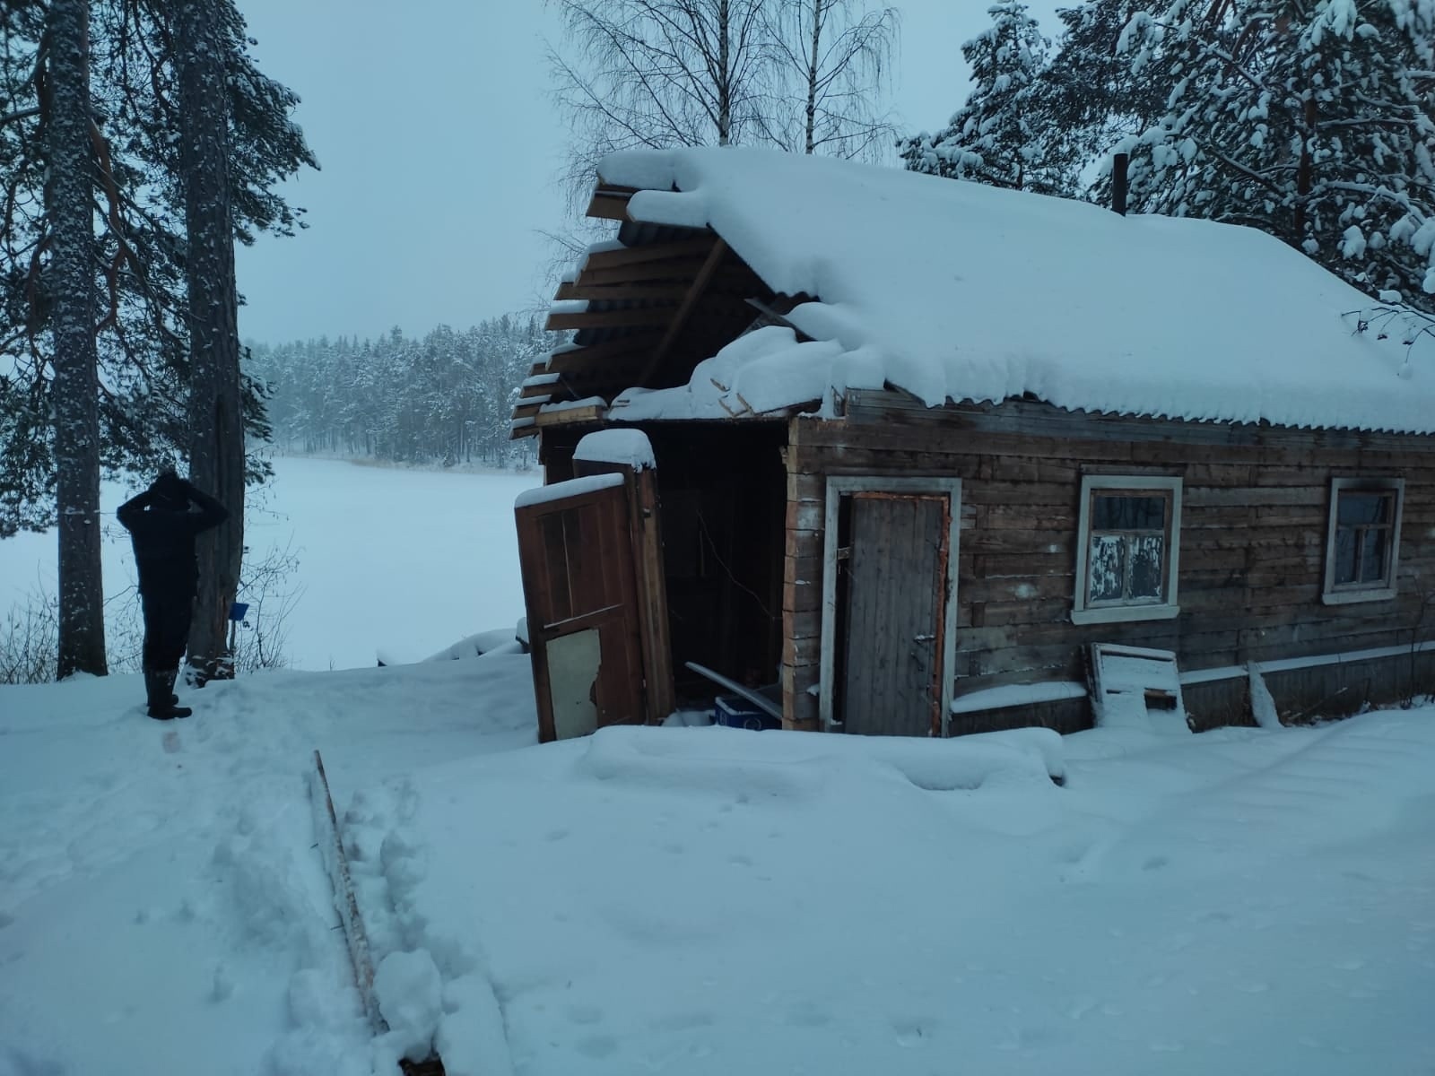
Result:
[[[268,390],[281,452],[517,466],[532,443],[508,439],[509,415],[551,349],[538,321],[505,316],[422,340],[393,329],[379,340],[250,344],[245,372]]]

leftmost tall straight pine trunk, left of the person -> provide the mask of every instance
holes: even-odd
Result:
[[[95,353],[95,274],[90,209],[89,4],[52,0],[46,214],[50,220],[47,291],[55,324],[55,465],[59,509],[60,631],[56,673],[103,676],[105,591],[99,521],[99,377]]]

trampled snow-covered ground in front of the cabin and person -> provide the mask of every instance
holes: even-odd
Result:
[[[1435,1070],[1431,709],[535,746],[522,656],[139,696],[0,689],[3,1076]]]

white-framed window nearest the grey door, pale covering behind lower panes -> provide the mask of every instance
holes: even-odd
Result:
[[[1072,621],[1175,617],[1181,479],[1085,475]]]

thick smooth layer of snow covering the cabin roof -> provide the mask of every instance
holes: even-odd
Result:
[[[1032,393],[1076,410],[1435,430],[1435,369],[1406,362],[1398,330],[1356,333],[1372,300],[1251,228],[763,149],[627,151],[598,172],[644,188],[633,220],[712,227],[775,291],[819,296],[786,317],[837,349],[742,350],[720,373],[740,374],[746,409],[699,364],[680,389],[624,393],[613,417],[723,417],[887,382],[928,406]]]

